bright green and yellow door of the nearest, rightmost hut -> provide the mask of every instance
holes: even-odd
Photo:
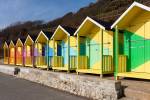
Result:
[[[145,39],[144,32],[134,32],[136,26],[124,32],[124,53],[128,56],[127,70],[145,72]],[[132,32],[133,31],[133,32]]]

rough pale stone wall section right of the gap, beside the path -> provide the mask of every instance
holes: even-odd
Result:
[[[0,71],[2,71],[1,66]],[[95,100],[117,100],[122,94],[120,82],[98,77],[32,68],[20,68],[16,76]]]

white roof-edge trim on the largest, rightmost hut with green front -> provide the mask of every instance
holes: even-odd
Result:
[[[128,13],[130,10],[132,10],[134,7],[139,7],[141,9],[144,9],[146,11],[150,11],[150,7],[145,6],[143,4],[140,4],[138,2],[134,2],[111,26],[111,29],[114,28]]]

